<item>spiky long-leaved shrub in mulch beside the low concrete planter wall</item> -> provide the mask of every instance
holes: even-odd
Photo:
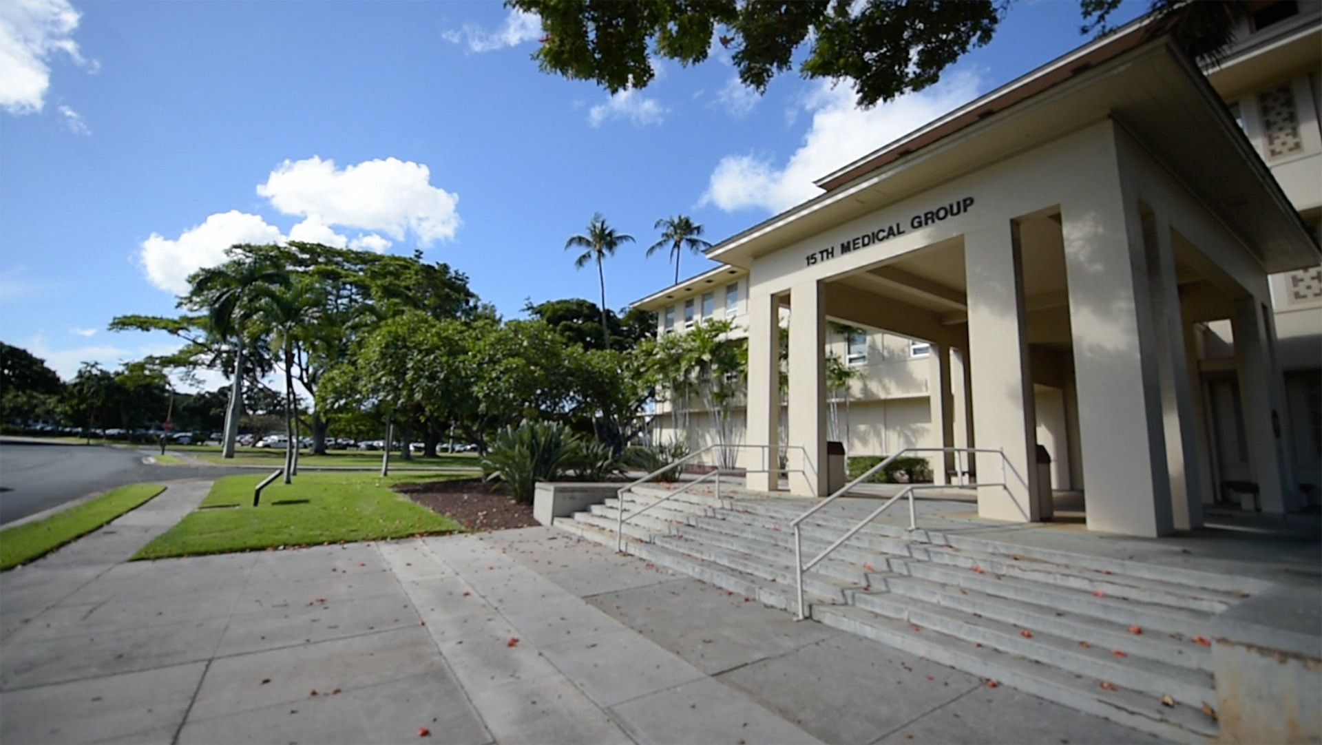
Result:
[[[533,501],[538,481],[555,481],[570,468],[576,439],[563,424],[524,421],[496,433],[481,460],[486,481],[500,478],[510,497]]]

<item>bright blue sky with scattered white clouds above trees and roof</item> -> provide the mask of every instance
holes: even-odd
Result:
[[[673,279],[644,258],[658,218],[739,232],[1079,25],[1075,1],[1018,3],[941,83],[859,111],[796,74],[743,90],[719,45],[611,96],[538,71],[537,18],[498,3],[0,3],[0,339],[66,378],[169,350],[106,324],[175,313],[227,244],[286,236],[422,248],[506,317],[596,300],[563,250],[595,211],[637,240],[605,266],[621,308]]]

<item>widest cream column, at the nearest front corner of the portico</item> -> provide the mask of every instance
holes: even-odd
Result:
[[[1088,530],[1175,530],[1142,217],[1118,169],[1060,205]]]

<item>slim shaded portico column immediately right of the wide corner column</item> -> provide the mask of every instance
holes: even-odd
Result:
[[[1153,329],[1157,333],[1157,371],[1161,378],[1162,417],[1166,433],[1166,468],[1170,473],[1171,519],[1177,530],[1203,524],[1203,481],[1198,468],[1194,399],[1188,388],[1188,357],[1185,318],[1175,281],[1175,248],[1170,223],[1159,215],[1144,222],[1147,288],[1153,296]]]

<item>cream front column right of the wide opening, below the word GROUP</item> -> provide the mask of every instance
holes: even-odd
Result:
[[[1014,232],[1006,221],[964,236],[973,432],[980,448],[1003,452],[978,453],[978,516],[1035,522],[1038,505],[1030,495],[1038,481],[1036,421]]]

